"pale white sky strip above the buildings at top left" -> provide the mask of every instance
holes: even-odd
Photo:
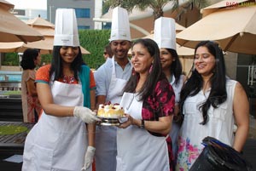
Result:
[[[47,9],[47,0],[5,0],[15,5],[15,9]]]

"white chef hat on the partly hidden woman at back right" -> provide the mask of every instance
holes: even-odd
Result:
[[[154,41],[159,48],[176,50],[175,20],[167,17],[160,17],[154,20]]]

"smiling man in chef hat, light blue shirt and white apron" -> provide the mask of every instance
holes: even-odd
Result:
[[[119,103],[125,83],[131,76],[131,62],[128,60],[131,33],[125,9],[113,9],[109,41],[113,58],[108,58],[95,73],[97,105],[107,101]],[[115,171],[116,155],[116,127],[96,127],[96,171]]]

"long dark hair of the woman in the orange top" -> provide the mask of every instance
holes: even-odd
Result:
[[[63,77],[63,66],[62,66],[62,58],[60,54],[62,46],[54,46],[53,48],[53,58],[51,60],[51,66],[49,70],[49,76],[51,77],[52,74],[54,74],[54,81],[59,80],[61,77]],[[81,67],[84,64],[84,60],[82,58],[81,48],[79,47],[79,54],[78,56],[73,60],[71,64],[71,70],[74,72],[74,77],[76,80],[79,80],[78,72],[81,70]]]

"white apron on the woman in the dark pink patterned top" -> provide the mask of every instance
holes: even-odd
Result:
[[[125,113],[142,119],[143,101],[138,101],[136,94],[125,93],[121,105]],[[154,136],[144,128],[119,128],[117,151],[116,171],[170,171],[166,137]]]

